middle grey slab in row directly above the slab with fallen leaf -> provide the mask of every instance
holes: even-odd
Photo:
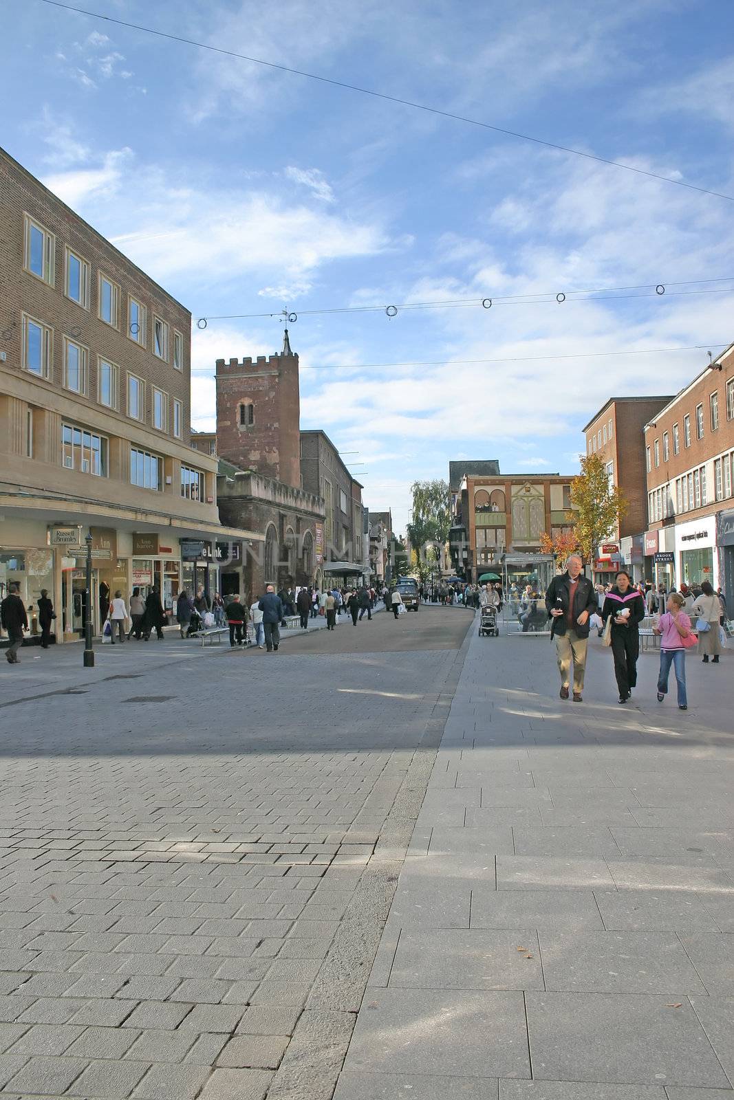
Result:
[[[472,928],[603,928],[594,895],[585,890],[490,890],[474,887]]]

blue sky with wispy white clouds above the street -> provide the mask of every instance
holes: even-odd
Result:
[[[734,194],[730,0],[89,7]],[[0,142],[195,318],[298,312],[303,426],[359,452],[397,526],[449,459],[573,472],[612,393],[673,393],[708,362],[592,352],[734,340],[734,280],[307,316],[734,276],[734,202],[40,0],[6,0],[3,25]],[[195,328],[195,426],[213,424],[217,358],[281,341],[277,319]],[[508,362],[550,355],[581,358]],[[416,361],[449,365],[375,365]]]

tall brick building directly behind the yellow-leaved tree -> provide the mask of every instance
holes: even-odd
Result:
[[[625,494],[629,508],[616,530],[596,548],[594,576],[609,581],[622,563],[634,578],[644,576],[644,532],[647,526],[647,472],[644,428],[670,400],[661,397],[610,397],[583,431],[587,454],[596,454],[606,468],[610,485]]]

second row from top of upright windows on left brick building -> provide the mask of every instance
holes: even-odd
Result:
[[[89,396],[89,351],[70,337],[64,337],[63,385],[74,394]],[[53,361],[53,330],[42,321],[23,315],[23,366],[31,374],[48,378]],[[133,420],[145,419],[145,383],[127,372],[127,414]],[[107,408],[119,410],[120,370],[101,355],[97,356],[97,400]],[[168,395],[152,387],[152,424],[157,431],[168,428]],[[174,398],[173,435],[180,439],[184,430],[184,405]]]

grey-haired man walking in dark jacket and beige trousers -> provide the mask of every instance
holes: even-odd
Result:
[[[546,607],[552,618],[551,638],[556,639],[560,697],[568,698],[570,669],[573,662],[573,702],[582,702],[583,674],[589,645],[589,617],[596,610],[596,593],[588,576],[581,574],[578,554],[566,562],[566,572],[555,576],[546,592]]]

